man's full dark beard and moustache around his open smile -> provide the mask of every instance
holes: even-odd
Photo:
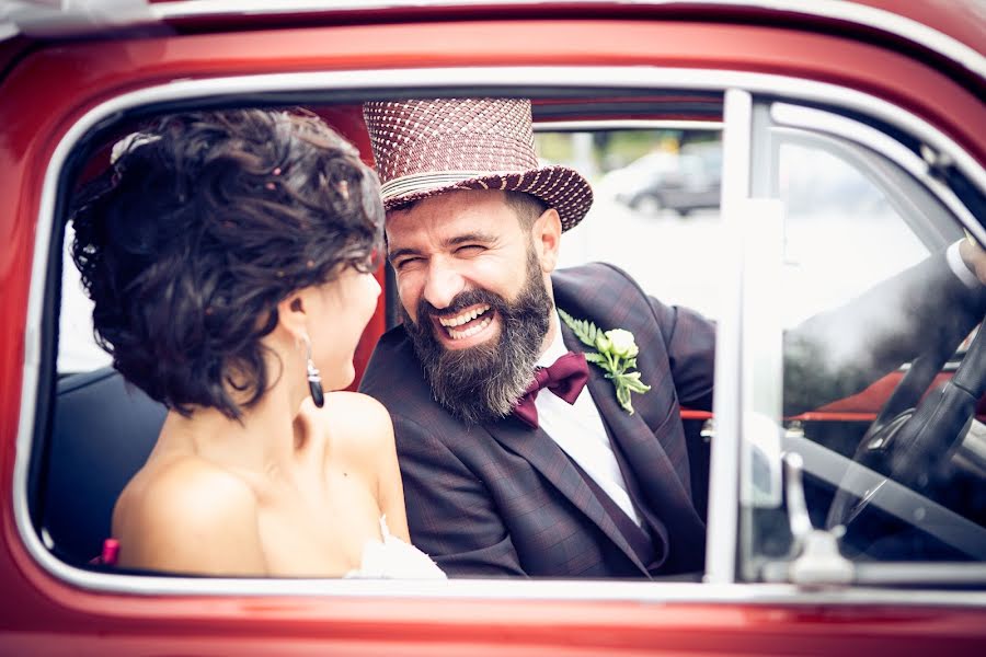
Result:
[[[446,349],[434,334],[426,300],[417,304],[417,323],[401,307],[404,328],[424,367],[435,400],[468,424],[505,417],[534,378],[553,303],[541,278],[537,254],[528,251],[527,281],[512,303],[489,290],[459,293],[443,315],[480,303],[500,316],[500,337],[466,349]],[[489,312],[489,311],[488,311]]]

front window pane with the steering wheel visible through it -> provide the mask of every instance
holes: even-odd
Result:
[[[776,424],[744,425],[745,576],[789,580],[819,567],[865,579],[881,562],[986,560],[986,471],[970,457],[982,404],[952,413],[941,403],[983,319],[964,297],[936,297],[972,289],[944,256],[962,237],[955,217],[908,163],[851,139],[775,129],[771,143],[781,275],[748,293],[776,298],[783,394]],[[783,495],[758,468],[781,454]]]

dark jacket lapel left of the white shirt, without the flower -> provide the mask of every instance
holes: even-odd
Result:
[[[485,425],[485,428],[506,449],[530,463],[575,508],[599,527],[642,573],[647,573],[646,567],[637,557],[637,553],[620,533],[606,509],[603,508],[592,488],[548,434],[541,429],[531,430],[519,420],[509,417],[497,423],[490,423]]]

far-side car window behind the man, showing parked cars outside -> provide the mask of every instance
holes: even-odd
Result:
[[[665,303],[719,315],[722,138],[715,128],[539,131],[542,155],[587,172],[595,200],[562,266],[608,262]]]

